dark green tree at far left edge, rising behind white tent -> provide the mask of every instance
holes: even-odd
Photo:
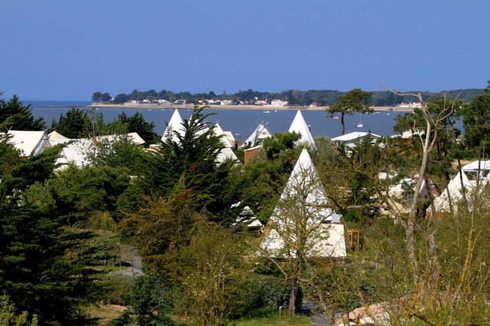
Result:
[[[6,102],[0,92],[0,130],[43,130],[45,121],[42,117],[34,119],[30,104],[24,106],[17,95]]]

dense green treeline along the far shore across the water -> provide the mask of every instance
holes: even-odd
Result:
[[[416,91],[412,91],[416,92]],[[438,93],[430,93],[430,92],[421,92],[423,99],[426,100],[431,96],[434,97],[442,97],[446,96],[447,99],[455,99],[458,96],[459,99],[462,99],[464,102],[470,102],[472,99],[477,97],[479,94],[483,94],[483,90],[479,89],[466,89],[466,90],[450,90],[450,91],[442,91]],[[194,103],[197,99],[214,99],[214,100],[232,100],[232,101],[241,101],[244,104],[255,104],[257,99],[272,101],[273,99],[281,99],[282,101],[288,101],[290,105],[301,105],[307,106],[312,104],[313,102],[318,103],[320,106],[331,106],[333,104],[337,104],[337,97],[339,95],[344,95],[346,92],[340,92],[337,90],[283,90],[282,92],[258,92],[254,90],[239,90],[239,92],[235,94],[227,94],[226,91],[223,91],[221,94],[216,94],[211,91],[209,93],[196,93],[191,94],[190,92],[178,92],[174,93],[169,90],[162,90],[157,92],[155,90],[148,90],[145,92],[140,92],[138,90],[133,90],[129,94],[121,93],[117,94],[114,97],[114,100],[111,101],[113,104],[123,104],[127,101],[143,101],[144,99],[148,99],[150,101],[165,99],[169,102],[174,102],[179,99],[186,100],[187,103]],[[92,96],[92,101],[103,101],[109,102],[111,97],[108,93],[105,97],[102,97],[101,92],[94,92]],[[412,97],[408,96],[400,96],[398,94],[394,94],[393,92],[385,92],[385,91],[376,91],[372,92],[372,95],[369,99],[372,106],[395,106],[400,103],[409,103],[414,101]]]

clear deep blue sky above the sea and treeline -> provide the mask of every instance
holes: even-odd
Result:
[[[0,1],[0,91],[455,90],[490,79],[490,1]]]

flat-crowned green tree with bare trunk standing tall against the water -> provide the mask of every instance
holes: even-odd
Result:
[[[339,95],[337,104],[330,106],[325,111],[328,117],[332,118],[335,113],[340,113],[340,122],[342,122],[342,135],[345,134],[344,115],[353,115],[355,112],[372,113],[374,110],[370,108],[367,99],[372,95],[372,92],[364,92],[360,88],[350,90],[345,95]]]

